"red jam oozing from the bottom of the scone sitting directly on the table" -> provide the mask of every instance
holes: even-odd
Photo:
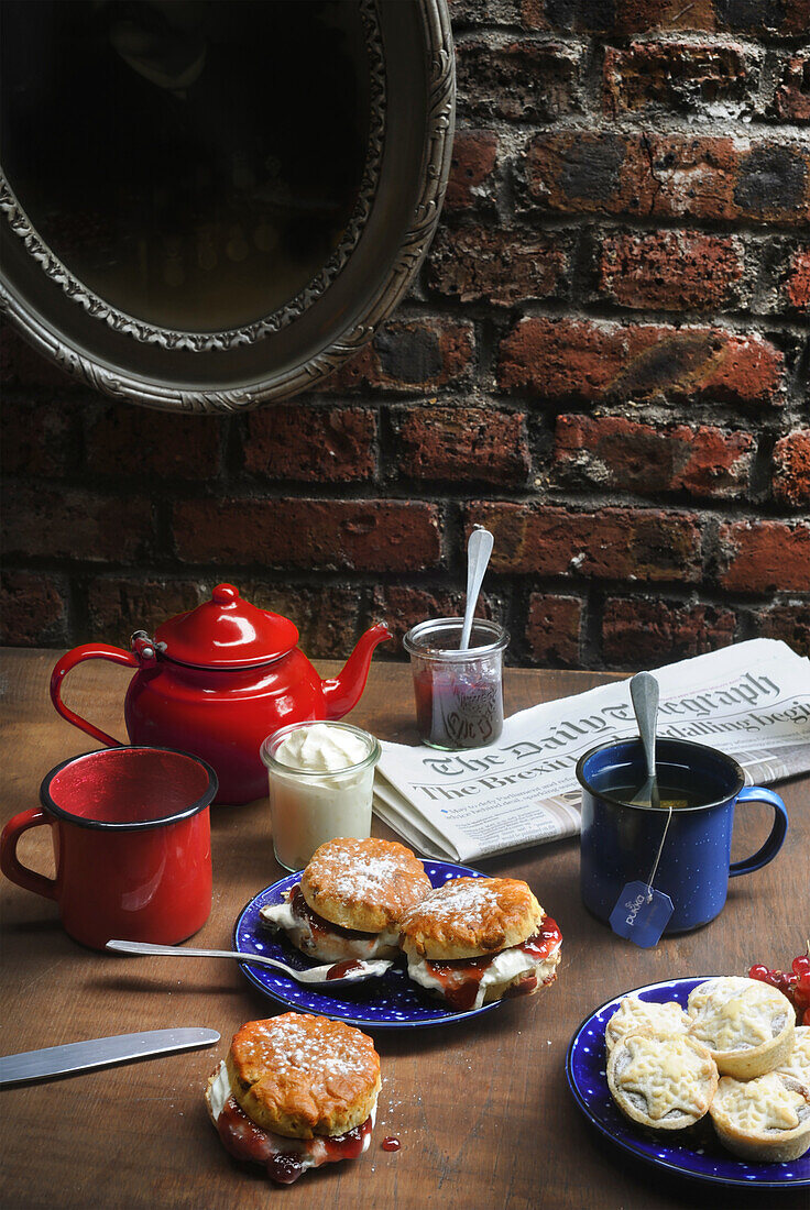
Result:
[[[258,1127],[232,1095],[225,1101],[217,1119],[217,1130],[231,1156],[264,1164],[268,1175],[280,1185],[292,1185],[304,1171],[301,1154],[297,1151],[278,1151],[278,1146],[285,1142],[281,1135],[271,1135]],[[356,1159],[361,1156],[364,1140],[370,1133],[372,1119],[368,1117],[345,1134],[318,1135],[316,1139],[304,1140],[304,1143],[312,1147],[318,1165],[335,1164],[340,1159]]]

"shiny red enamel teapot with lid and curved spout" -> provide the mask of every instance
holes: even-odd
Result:
[[[298,630],[288,618],[242,600],[232,584],[217,584],[211,600],[168,618],[154,639],[137,630],[131,651],[104,643],[74,647],[51,674],[51,699],[68,722],[120,748],[68,709],[62,684],[85,659],[136,668],[123,708],[130,743],[201,756],[219,778],[216,802],[252,802],[268,793],[259,757],[265,736],[287,722],[347,714],[363,692],[374,647],[390,638],[384,622],[373,626],[343,672],[321,680],[295,646]]]

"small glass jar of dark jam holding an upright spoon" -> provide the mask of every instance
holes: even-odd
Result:
[[[459,651],[460,617],[437,617],[408,630],[420,739],[455,751],[494,743],[504,730],[504,651],[507,632],[475,618],[470,646]]]

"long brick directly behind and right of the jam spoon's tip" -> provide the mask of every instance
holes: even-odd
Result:
[[[597,580],[701,577],[700,524],[690,513],[647,508],[573,512],[561,506],[476,502],[467,526],[495,538],[493,571]]]

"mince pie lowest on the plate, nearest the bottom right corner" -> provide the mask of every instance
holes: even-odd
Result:
[[[710,1112],[723,1146],[742,1159],[785,1163],[810,1148],[810,1102],[776,1071],[724,1076]]]

